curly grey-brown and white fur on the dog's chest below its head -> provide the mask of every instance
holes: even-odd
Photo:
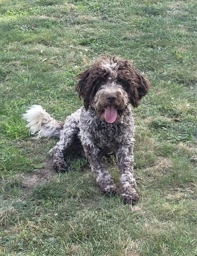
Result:
[[[82,144],[94,144],[103,153],[113,151],[118,145],[134,141],[134,120],[129,108],[125,110],[121,122],[109,124],[100,121],[91,109],[82,109],[79,120],[79,136]]]

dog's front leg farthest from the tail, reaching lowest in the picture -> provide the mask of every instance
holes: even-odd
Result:
[[[125,204],[135,204],[139,199],[133,173],[133,145],[119,145],[116,150],[120,170],[120,194]]]

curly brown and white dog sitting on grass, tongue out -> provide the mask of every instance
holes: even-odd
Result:
[[[116,57],[100,58],[77,78],[76,91],[84,100],[83,107],[61,122],[34,105],[23,115],[27,127],[37,138],[60,138],[49,152],[57,172],[67,170],[65,150],[80,151],[105,194],[117,193],[105,162],[105,156],[114,153],[120,170],[120,195],[126,204],[134,204],[139,196],[133,173],[135,126],[131,105],[138,106],[150,83],[129,61]]]

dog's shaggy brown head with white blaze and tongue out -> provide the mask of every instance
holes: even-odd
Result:
[[[115,57],[102,57],[77,78],[76,90],[85,109],[91,106],[108,123],[120,120],[129,103],[137,107],[150,88],[150,82],[129,61]]]

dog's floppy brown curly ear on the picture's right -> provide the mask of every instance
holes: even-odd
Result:
[[[130,103],[137,107],[141,98],[146,95],[150,88],[150,82],[140,74],[128,61],[120,61],[118,81],[129,96]]]

